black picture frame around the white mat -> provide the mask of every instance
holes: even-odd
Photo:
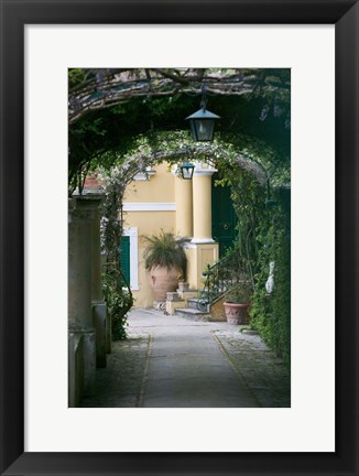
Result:
[[[352,0],[1,0],[1,475],[359,475],[358,13]],[[24,25],[86,23],[335,24],[335,453],[24,453]]]

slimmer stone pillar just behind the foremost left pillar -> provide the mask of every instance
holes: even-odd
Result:
[[[77,207],[93,213],[91,220],[91,305],[96,335],[96,366],[106,367],[107,310],[102,300],[100,210],[104,194],[87,193],[77,198]]]

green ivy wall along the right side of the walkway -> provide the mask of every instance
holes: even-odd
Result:
[[[285,186],[261,186],[243,169],[233,169],[222,183],[232,190],[238,215],[235,250],[246,262],[253,284],[251,326],[291,363],[291,195]],[[274,262],[274,290],[265,283]]]

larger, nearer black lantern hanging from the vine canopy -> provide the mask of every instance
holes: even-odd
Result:
[[[193,140],[196,142],[208,142],[214,140],[215,122],[220,119],[220,117],[206,109],[207,98],[205,85],[202,88],[202,95],[200,109],[188,116],[186,120],[189,120]]]

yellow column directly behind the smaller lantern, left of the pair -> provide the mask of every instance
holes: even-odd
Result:
[[[193,237],[192,181],[176,177],[176,232],[183,238]]]

